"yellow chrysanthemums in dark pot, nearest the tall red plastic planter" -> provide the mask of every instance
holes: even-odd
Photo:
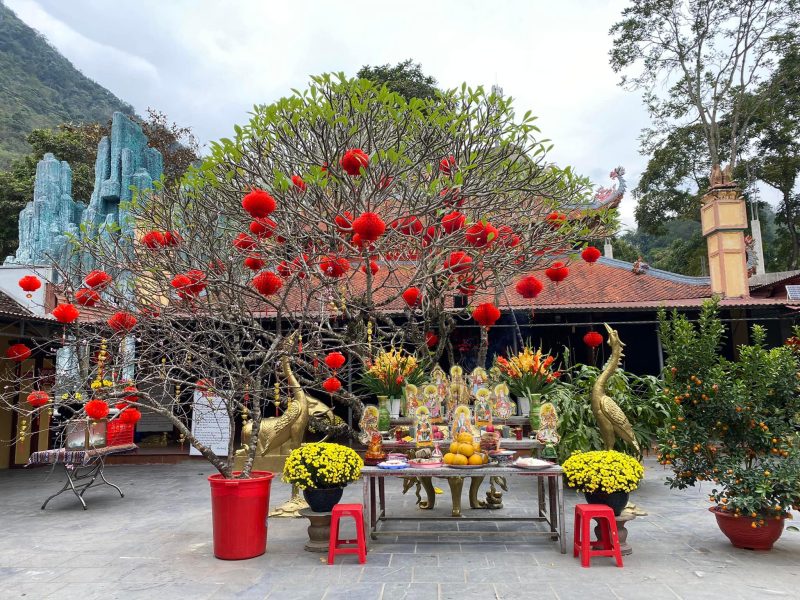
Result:
[[[303,490],[311,510],[330,512],[344,486],[361,476],[364,461],[352,448],[317,442],[292,450],[283,466],[283,480]]]

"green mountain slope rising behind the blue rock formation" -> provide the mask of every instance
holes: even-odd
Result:
[[[30,152],[34,129],[65,122],[105,123],[133,107],[78,71],[0,0],[0,169]]]

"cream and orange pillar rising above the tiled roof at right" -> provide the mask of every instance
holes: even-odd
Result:
[[[724,298],[750,295],[744,231],[747,211],[744,198],[732,181],[712,176],[712,186],[703,196],[700,223],[708,247],[711,290]]]

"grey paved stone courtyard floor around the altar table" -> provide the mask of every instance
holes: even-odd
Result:
[[[648,461],[633,500],[649,515],[633,521],[634,553],[618,569],[606,558],[582,569],[572,558],[572,506],[566,492],[568,553],[548,538],[522,542],[502,536],[382,537],[361,566],[354,556],[328,566],[303,550],[306,519],[271,519],[267,553],[226,562],[213,557],[205,462],[110,466],[109,487],[87,492],[89,510],[64,494],[39,506],[64,477],[49,469],[0,472],[0,598],[83,600],[509,600],[513,598],[800,598],[800,533],[787,531],[769,553],[733,548],[720,533],[707,489],[670,491],[664,471]],[[442,487],[440,485],[440,487]],[[361,502],[361,485],[343,501]],[[276,482],[273,505],[289,488]],[[387,484],[398,514],[416,511],[414,496]],[[532,496],[514,488],[506,511],[524,514]],[[437,511],[449,511],[439,496]],[[475,529],[493,524],[452,523]],[[508,524],[506,524],[508,525]],[[407,525],[404,525],[407,527]]]

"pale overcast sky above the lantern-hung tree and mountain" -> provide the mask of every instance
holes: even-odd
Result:
[[[646,111],[608,66],[625,0],[5,2],[139,114],[162,110],[201,143],[311,74],[412,58],[442,87],[499,84],[518,114],[538,115],[552,159],[598,185],[623,165],[632,189],[645,164]],[[628,225],[633,208],[627,194]]]

